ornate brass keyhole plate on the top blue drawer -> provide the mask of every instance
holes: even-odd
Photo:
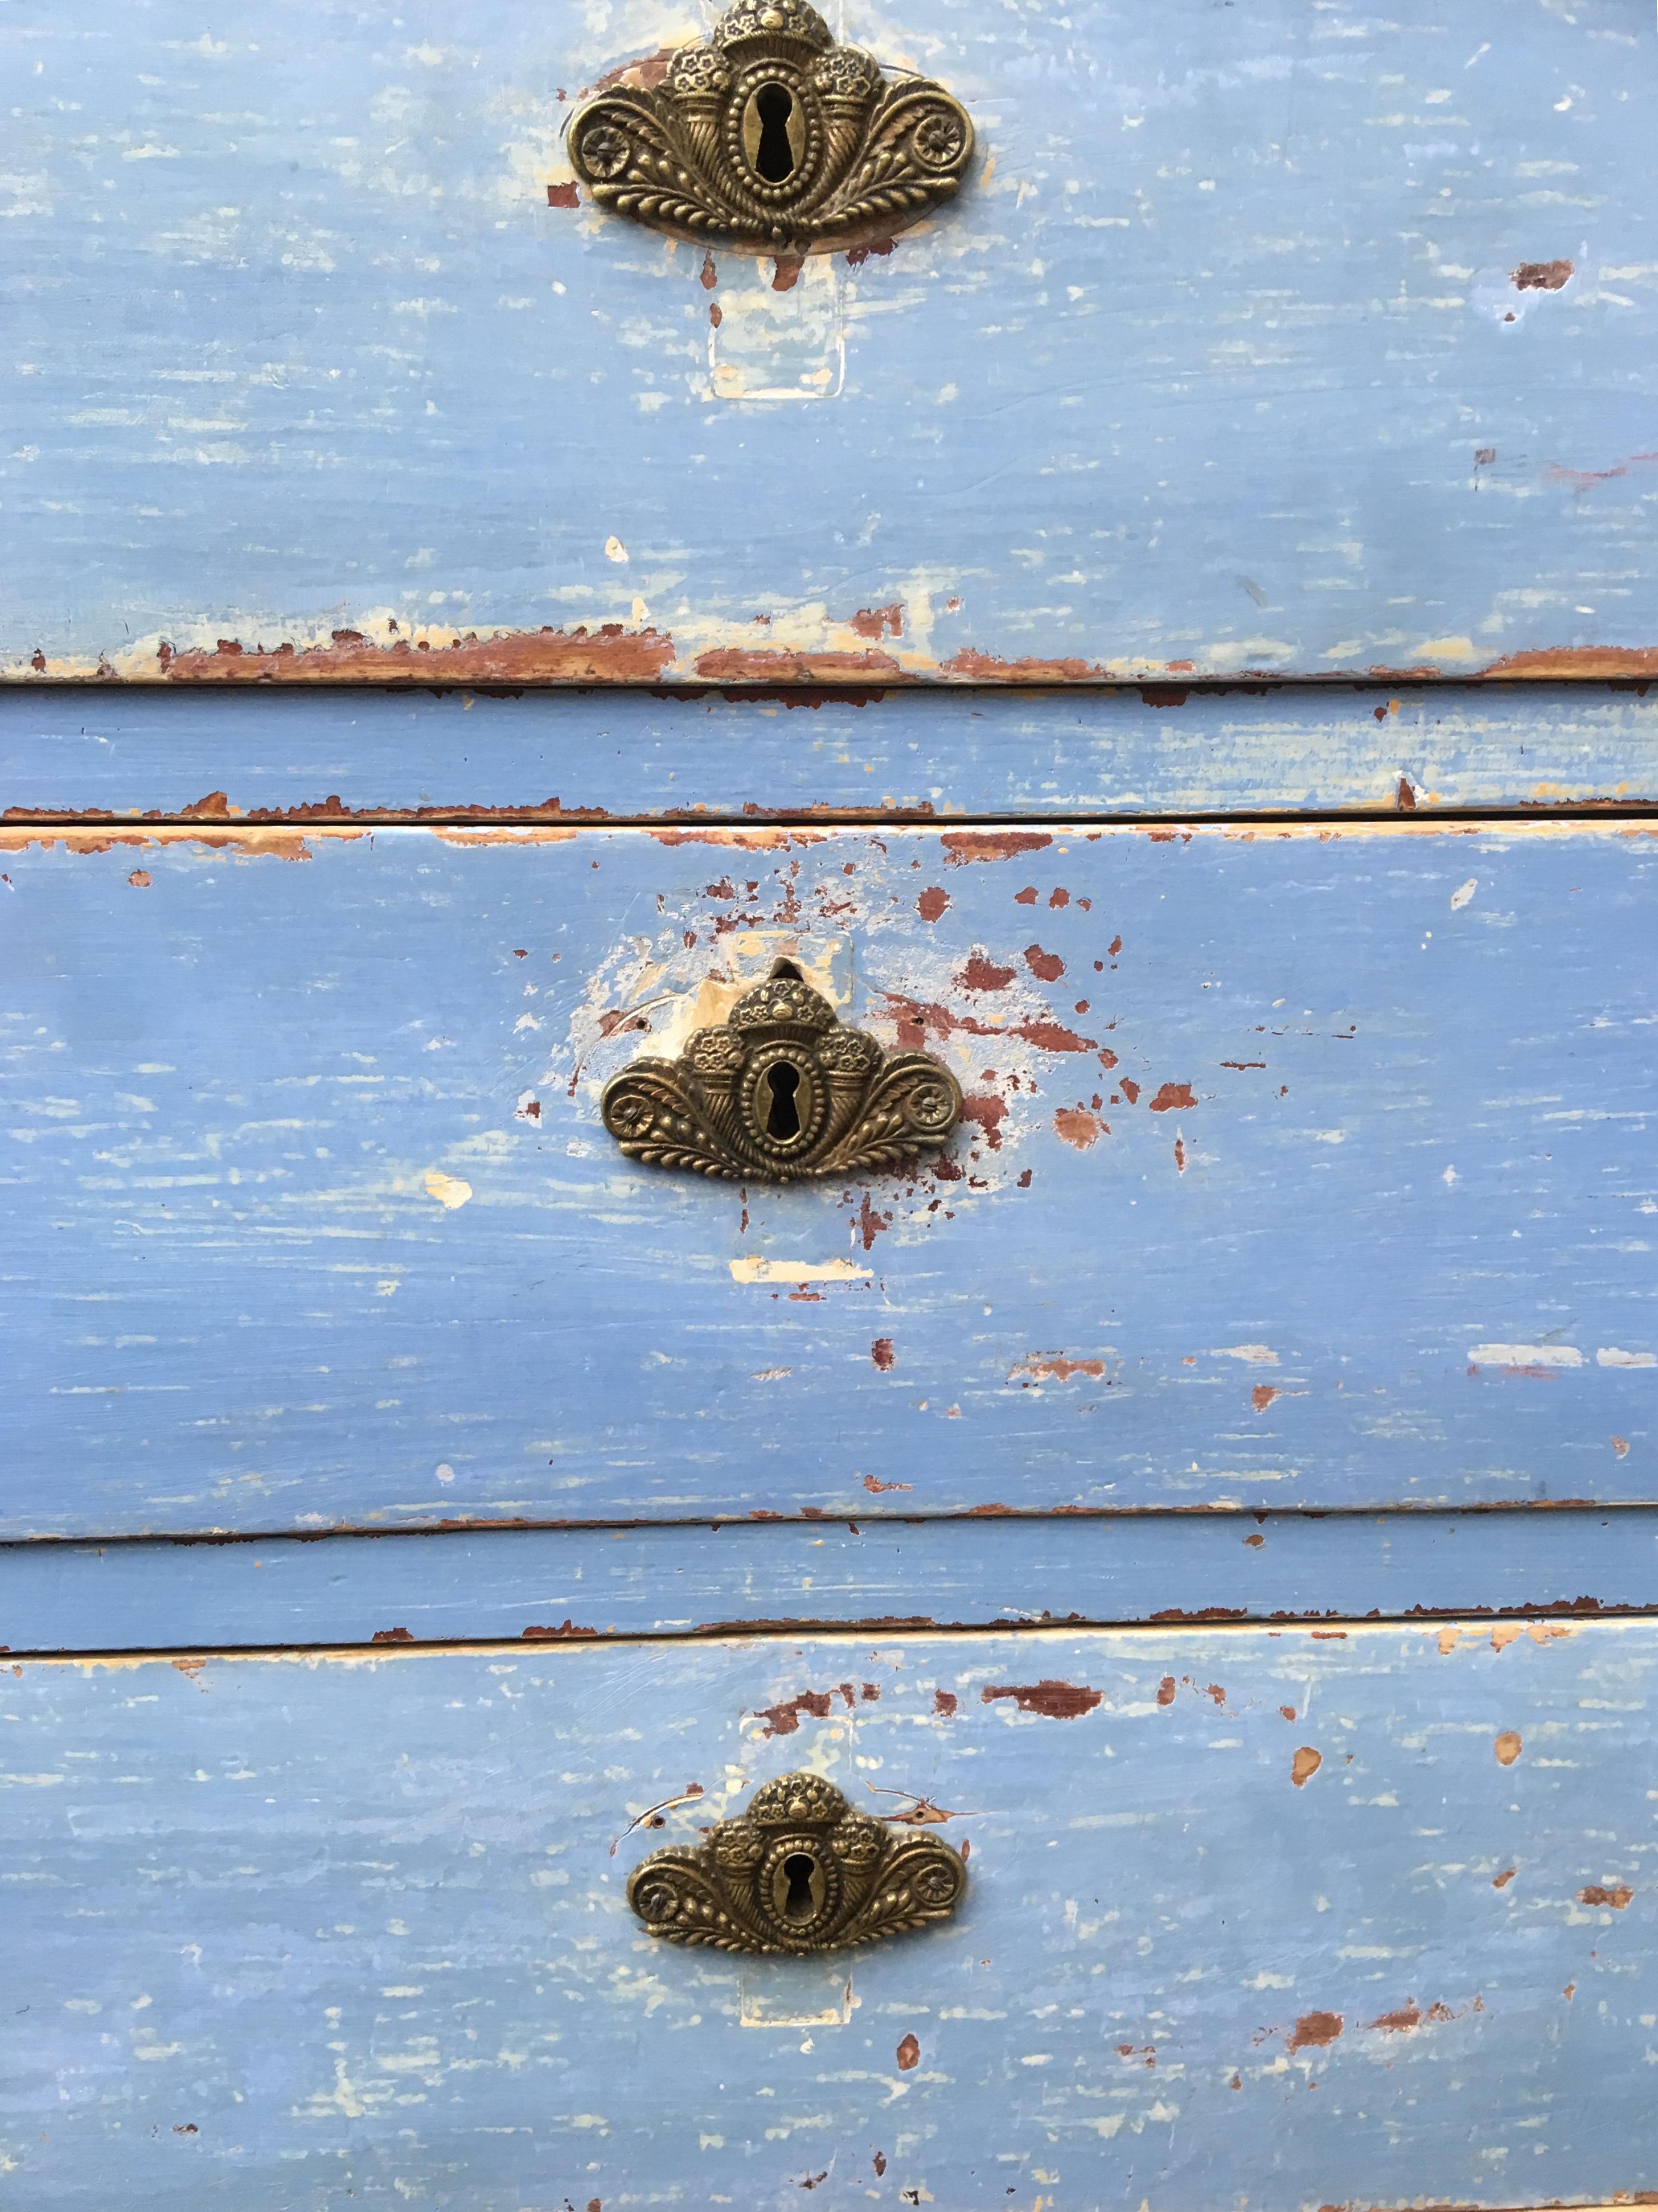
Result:
[[[601,208],[783,254],[902,230],[955,192],[970,155],[959,100],[926,77],[889,84],[807,0],[736,0],[659,84],[615,86],[570,122]]]

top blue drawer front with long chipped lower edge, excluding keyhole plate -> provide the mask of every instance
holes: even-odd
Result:
[[[1651,668],[1649,9],[833,15],[982,161],[796,272],[570,181],[694,9],[11,7],[7,668]]]

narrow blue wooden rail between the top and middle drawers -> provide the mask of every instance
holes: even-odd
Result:
[[[809,712],[805,710],[809,708]],[[0,814],[318,821],[1658,803],[1638,686],[181,695],[0,690]]]

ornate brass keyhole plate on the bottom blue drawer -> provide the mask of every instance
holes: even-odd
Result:
[[[847,1951],[948,1920],[966,1865],[937,1836],[895,1840],[820,1774],[763,1783],[699,1851],[652,1851],[628,1905],[652,1936],[716,1951]]]

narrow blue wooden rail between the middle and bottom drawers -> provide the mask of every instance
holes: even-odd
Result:
[[[743,1628],[1592,1617],[1658,1599],[1658,1513],[1119,1513],[0,1546],[0,1650]]]

